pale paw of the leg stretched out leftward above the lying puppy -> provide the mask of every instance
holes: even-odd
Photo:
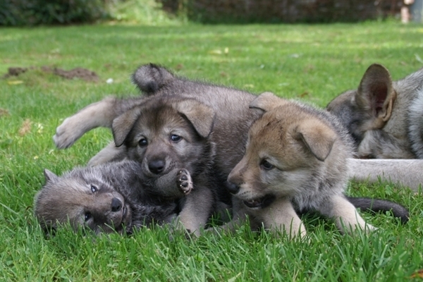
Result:
[[[71,116],[56,128],[56,134],[53,136],[54,144],[59,149],[66,149],[71,147],[84,133],[85,129],[81,127],[78,118],[75,119]]]

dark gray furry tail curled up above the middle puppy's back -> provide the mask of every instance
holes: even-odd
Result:
[[[155,94],[161,87],[174,78],[173,74],[154,63],[137,68],[132,76],[133,83],[147,95]]]

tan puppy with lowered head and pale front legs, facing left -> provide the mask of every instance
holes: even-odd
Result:
[[[305,235],[296,211],[333,218],[343,232],[373,230],[343,195],[351,140],[336,118],[266,92],[250,108],[264,114],[252,124],[246,152],[228,176],[235,196],[235,226],[245,215],[252,227]]]

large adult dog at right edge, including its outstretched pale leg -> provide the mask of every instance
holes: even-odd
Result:
[[[423,160],[401,159],[423,159],[423,68],[392,81],[384,66],[373,64],[357,90],[340,94],[327,109],[354,137],[356,157],[369,159],[350,160],[353,178],[422,186]]]

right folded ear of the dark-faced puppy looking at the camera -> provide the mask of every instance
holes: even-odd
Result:
[[[178,113],[183,114],[192,123],[197,133],[208,137],[212,133],[215,113],[212,108],[194,99],[185,99],[173,104]]]

